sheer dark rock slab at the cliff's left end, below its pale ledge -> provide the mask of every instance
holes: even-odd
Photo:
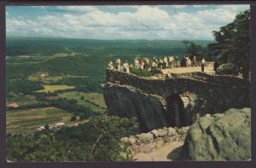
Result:
[[[125,84],[105,85],[104,98],[108,113],[135,117],[142,131],[154,130],[170,125],[165,100]]]

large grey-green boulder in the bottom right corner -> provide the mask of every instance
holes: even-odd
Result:
[[[198,119],[190,126],[181,159],[251,159],[251,109],[230,108]]]

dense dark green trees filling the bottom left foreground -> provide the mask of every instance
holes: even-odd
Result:
[[[77,127],[8,135],[7,158],[21,162],[129,160],[131,155],[126,155],[119,140],[136,132],[135,119],[101,115]]]

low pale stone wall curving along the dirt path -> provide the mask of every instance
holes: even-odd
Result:
[[[132,154],[148,154],[170,142],[183,142],[189,127],[163,128],[150,132],[121,138],[121,143],[128,145]]]

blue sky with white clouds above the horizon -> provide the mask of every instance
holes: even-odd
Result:
[[[205,39],[249,5],[7,7],[8,37]]]

